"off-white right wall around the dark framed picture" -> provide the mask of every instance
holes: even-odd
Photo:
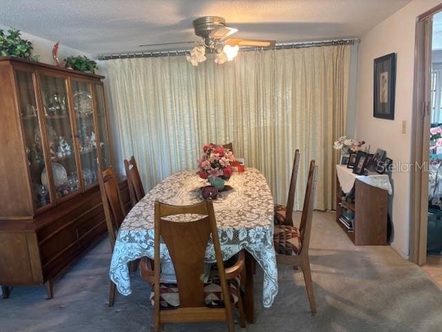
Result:
[[[356,137],[387,151],[394,161],[411,159],[411,121],[414,71],[414,29],[416,17],[438,5],[441,0],[414,0],[395,12],[361,38],[358,53]],[[373,60],[397,53],[396,105],[394,120],[373,117]],[[402,121],[407,132],[401,133]],[[390,216],[394,223],[392,243],[403,257],[409,255],[410,173],[392,174],[394,194],[390,198]]]

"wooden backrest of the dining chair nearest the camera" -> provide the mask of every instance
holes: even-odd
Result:
[[[166,219],[176,214],[200,214],[193,221]],[[195,205],[173,206],[155,201],[155,287],[160,284],[160,237],[164,240],[177,277],[180,307],[204,307],[204,256],[212,236],[224,299],[229,299],[218,231],[211,200]],[[159,303],[155,288],[155,304]],[[227,300],[226,302],[229,302]],[[230,303],[230,302],[229,302]],[[229,303],[225,303],[229,306]]]

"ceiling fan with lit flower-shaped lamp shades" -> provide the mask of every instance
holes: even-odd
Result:
[[[164,46],[173,44],[198,44],[189,54],[186,54],[187,61],[193,66],[198,66],[206,60],[206,50],[215,53],[215,63],[224,64],[224,62],[233,60],[238,55],[241,46],[245,47],[271,47],[275,45],[274,40],[265,39],[244,39],[230,38],[238,29],[226,26],[224,17],[204,16],[193,21],[195,35],[201,37],[200,42],[173,42],[163,44],[145,44],[146,46]]]

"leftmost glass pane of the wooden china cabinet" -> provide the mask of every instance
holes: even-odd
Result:
[[[37,111],[32,73],[17,70],[15,76],[19,93],[23,139],[28,156],[32,197],[35,207],[39,209],[51,203],[48,183],[41,176],[46,169],[44,144],[40,131],[41,118],[39,118]]]

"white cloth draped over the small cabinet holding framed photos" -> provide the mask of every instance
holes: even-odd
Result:
[[[390,195],[393,194],[392,184],[387,174],[369,172],[368,175],[358,175],[354,174],[353,169],[348,168],[347,165],[336,165],[336,174],[338,175],[340,187],[345,194],[352,190],[356,178],[359,181],[367,183],[367,185],[387,190]]]

